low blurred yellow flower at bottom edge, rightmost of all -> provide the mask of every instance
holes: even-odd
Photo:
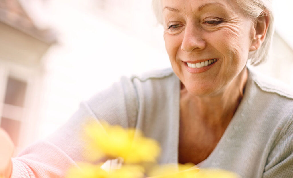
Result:
[[[200,169],[194,178],[238,178],[238,175],[222,169]]]

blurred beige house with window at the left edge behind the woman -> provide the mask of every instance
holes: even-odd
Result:
[[[41,59],[55,39],[51,30],[34,25],[17,0],[0,0],[0,126],[11,136],[16,152],[35,140]]]

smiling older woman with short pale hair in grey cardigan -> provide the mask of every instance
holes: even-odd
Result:
[[[81,125],[105,119],[158,140],[160,163],[193,162],[244,178],[293,177],[293,96],[246,67],[248,59],[258,64],[267,58],[271,2],[153,5],[173,70],[122,78],[82,103],[54,135],[7,163],[7,175],[62,177],[83,159]]]

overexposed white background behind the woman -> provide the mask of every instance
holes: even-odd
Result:
[[[41,90],[39,112],[37,119],[31,121],[37,124],[30,128],[35,129],[32,131],[35,134],[20,147],[52,133],[70,118],[81,101],[109,87],[122,75],[170,66],[163,28],[155,20],[151,0],[18,2],[35,26],[52,29],[57,38],[57,43],[41,61],[44,72],[38,86]],[[272,62],[267,65],[270,69],[264,65],[259,70],[279,76],[277,78],[293,86],[293,72],[288,70],[293,69],[290,55],[293,52],[293,2],[275,0],[274,8],[277,38],[288,48],[285,61],[289,62]],[[282,66],[287,66],[285,74]]]

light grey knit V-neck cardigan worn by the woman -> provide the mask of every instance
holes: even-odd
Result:
[[[260,77],[249,69],[241,103],[221,140],[200,167],[214,167],[238,173],[243,178],[293,177],[293,96],[281,84]],[[135,127],[162,147],[160,163],[178,162],[180,81],[172,69],[164,69],[122,78],[100,92],[80,109],[51,137],[35,143],[13,159],[13,177],[29,177],[24,165],[40,162],[35,168],[46,177],[42,160],[56,159],[55,165],[72,165],[84,160],[85,142],[80,139],[84,123],[103,119],[110,124]],[[42,146],[40,146],[42,145]],[[58,153],[36,151],[50,149]],[[39,160],[30,154],[38,154]],[[62,156],[60,156],[62,155]],[[53,163],[52,163],[53,164]],[[34,170],[36,171],[36,170]],[[62,177],[59,170],[56,177]]]

